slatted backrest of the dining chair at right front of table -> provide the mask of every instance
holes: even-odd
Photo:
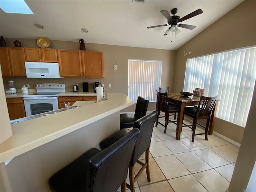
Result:
[[[215,107],[217,98],[218,95],[215,97],[201,96],[196,112],[197,116],[210,116],[212,114],[212,110]]]

